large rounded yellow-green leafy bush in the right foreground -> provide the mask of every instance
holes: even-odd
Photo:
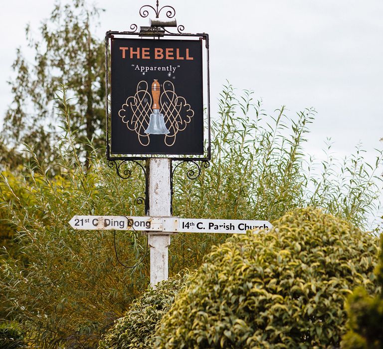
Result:
[[[376,237],[313,208],[274,226],[213,247],[162,318],[158,348],[339,345],[346,296],[376,289]]]

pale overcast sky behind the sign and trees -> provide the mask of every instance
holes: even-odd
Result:
[[[16,47],[26,46],[24,27],[38,33],[52,0],[0,0],[0,123],[11,100],[6,80]],[[96,35],[148,25],[139,8],[154,0],[99,0],[105,9]],[[238,91],[251,89],[272,113],[285,105],[289,115],[314,107],[306,150],[316,158],[328,137],[342,159],[363,144],[368,162],[383,143],[382,0],[160,0],[176,8],[185,32],[210,38],[212,116],[228,80]],[[32,57],[29,57],[32,59]]]

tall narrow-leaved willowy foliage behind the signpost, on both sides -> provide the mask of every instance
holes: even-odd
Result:
[[[132,176],[121,179],[99,156],[100,149],[90,152],[85,165],[77,155],[82,135],[72,127],[78,118],[63,92],[56,103],[62,137],[55,144],[55,160],[41,162],[28,148],[30,160],[17,184],[6,173],[0,178],[1,214],[11,220],[17,256],[22,255],[7,255],[1,262],[0,297],[36,345],[95,348],[147,289],[149,256],[126,269],[115,258],[113,232],[74,231],[68,221],[75,214],[144,215],[137,199],[144,196],[145,180],[132,163],[121,169]],[[377,166],[366,164],[361,152],[341,168],[330,158],[317,167],[307,162],[303,146],[313,117],[313,110],[287,116],[284,108],[266,115],[250,92],[236,96],[227,86],[213,118],[210,167],[195,180],[186,176],[190,167],[185,164],[174,174],[174,215],[272,221],[297,206],[312,205],[366,225],[378,203]],[[382,153],[377,157],[381,162]],[[197,268],[211,246],[226,237],[172,237],[170,274]],[[134,265],[145,255],[147,240],[140,233],[119,232],[116,245],[120,260]]]

